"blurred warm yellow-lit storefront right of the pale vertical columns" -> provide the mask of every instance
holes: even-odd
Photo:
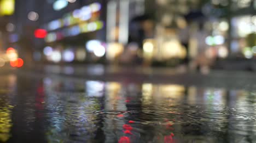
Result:
[[[143,46],[146,63],[208,67],[219,60],[253,58],[255,3],[156,1],[155,34]]]

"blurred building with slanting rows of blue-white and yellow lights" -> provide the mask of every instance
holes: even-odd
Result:
[[[79,2],[77,2],[79,3]],[[86,2],[41,26],[48,31],[43,50],[53,63],[90,63],[104,57],[104,2]]]

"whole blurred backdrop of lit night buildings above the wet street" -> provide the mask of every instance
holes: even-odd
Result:
[[[0,49],[15,48],[25,63],[196,67],[253,59],[255,5],[255,0],[1,0]]]

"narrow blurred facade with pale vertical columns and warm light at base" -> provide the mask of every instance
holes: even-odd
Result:
[[[132,21],[132,18],[143,15],[144,11],[144,0],[108,1],[106,58],[110,63],[126,63],[126,61],[131,61],[131,57],[136,55],[138,49],[137,43],[131,43],[127,46],[130,42],[131,35],[131,26],[129,23]]]

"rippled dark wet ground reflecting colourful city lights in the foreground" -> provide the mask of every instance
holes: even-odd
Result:
[[[254,142],[255,92],[0,77],[0,142]]]

